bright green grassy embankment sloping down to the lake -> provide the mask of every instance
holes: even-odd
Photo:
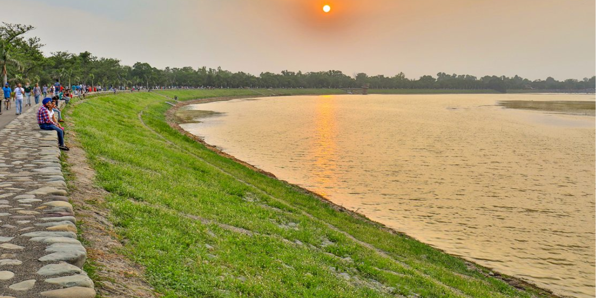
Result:
[[[167,125],[166,100],[90,98],[70,117],[126,255],[165,297],[536,295],[207,150]]]

